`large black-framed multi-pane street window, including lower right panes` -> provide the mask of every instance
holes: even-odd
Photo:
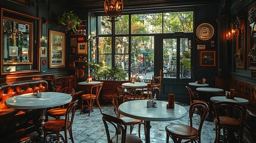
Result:
[[[155,36],[193,32],[193,11],[128,14],[119,17],[115,23],[107,21],[106,16],[98,16],[97,25],[98,64],[121,67],[127,73],[126,79],[131,76],[153,76]],[[178,49],[177,42],[180,45]],[[168,77],[176,78],[179,75],[179,78],[188,78],[191,72],[188,39],[165,39],[163,43],[164,69],[168,68],[173,72]],[[180,64],[179,72],[177,63]]]

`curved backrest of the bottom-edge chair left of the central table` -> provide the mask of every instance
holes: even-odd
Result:
[[[113,136],[110,137],[110,133],[112,132],[110,132],[109,129],[115,129],[115,135],[116,135],[115,142],[118,142],[121,140],[121,143],[125,143],[125,138],[127,135],[127,123],[125,123],[124,120],[119,119],[118,117],[110,116],[108,114],[102,113],[102,116],[103,116],[102,120],[107,133],[107,142],[112,142],[111,138],[113,137]],[[113,128],[109,128],[110,125],[112,125]],[[119,133],[121,133],[121,135]]]

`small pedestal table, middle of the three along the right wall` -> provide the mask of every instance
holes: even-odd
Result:
[[[208,88],[208,87],[205,88],[205,87],[203,87],[203,88],[196,88],[196,91],[207,93],[206,101],[208,101],[210,105],[209,105],[209,113],[206,115],[205,120],[212,121],[213,120],[213,118],[211,116],[212,104],[211,104],[210,98],[212,97],[212,93],[224,92],[224,90],[221,88]]]

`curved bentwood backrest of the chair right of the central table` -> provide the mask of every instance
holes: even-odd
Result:
[[[198,113],[195,113],[195,110],[198,110]],[[203,122],[205,121],[206,114],[209,111],[209,106],[205,102],[194,102],[190,105],[189,108],[189,120],[190,126],[193,127],[193,114],[199,114],[200,116],[200,123],[198,126],[198,136],[201,136],[201,130],[203,126]]]

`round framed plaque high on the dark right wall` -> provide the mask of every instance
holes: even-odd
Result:
[[[201,23],[196,27],[196,38],[208,41],[214,36],[214,27],[209,23]]]

